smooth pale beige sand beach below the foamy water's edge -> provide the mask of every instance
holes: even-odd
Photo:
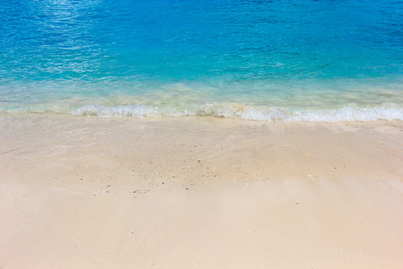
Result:
[[[403,123],[2,117],[0,268],[402,268]]]

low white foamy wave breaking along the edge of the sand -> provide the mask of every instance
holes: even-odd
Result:
[[[146,105],[105,107],[88,104],[81,108],[61,108],[58,106],[34,106],[22,108],[0,108],[2,114],[70,114],[73,116],[96,117],[228,117],[258,121],[310,121],[341,122],[374,120],[403,120],[403,108],[397,106],[378,108],[265,108],[237,103],[206,103],[202,105],[158,108]]]

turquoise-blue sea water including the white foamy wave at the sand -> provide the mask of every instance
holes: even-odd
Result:
[[[403,2],[11,0],[0,113],[403,120]]]

